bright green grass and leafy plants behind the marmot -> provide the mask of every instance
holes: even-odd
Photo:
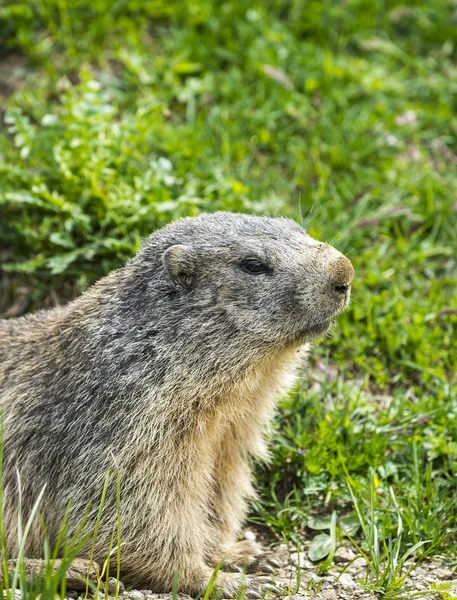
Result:
[[[352,260],[351,307],[282,403],[253,518],[309,538],[310,515],[356,499],[384,594],[412,548],[457,549],[455,19],[447,0],[0,8],[2,60],[27,59],[2,101],[8,303],[76,293],[202,210],[287,214]]]

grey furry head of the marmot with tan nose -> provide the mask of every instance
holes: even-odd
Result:
[[[198,330],[254,347],[325,332],[348,305],[354,275],[345,256],[295,221],[224,212],[168,225],[137,258],[156,264],[151,285],[160,282],[175,335]]]

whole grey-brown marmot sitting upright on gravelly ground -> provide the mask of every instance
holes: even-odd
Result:
[[[40,504],[50,544],[68,512],[94,530],[106,473],[119,473],[121,572],[131,585],[204,590],[221,560],[255,563],[238,541],[251,460],[309,342],[348,304],[350,261],[285,218],[219,212],[153,233],[127,264],[64,307],[0,322],[3,501],[9,555]],[[93,558],[116,528],[108,488]],[[36,519],[26,546],[43,555]],[[84,554],[86,553],[86,554]],[[87,556],[87,549],[82,551]],[[113,563],[115,560],[112,561]],[[216,589],[256,580],[218,573]]]

